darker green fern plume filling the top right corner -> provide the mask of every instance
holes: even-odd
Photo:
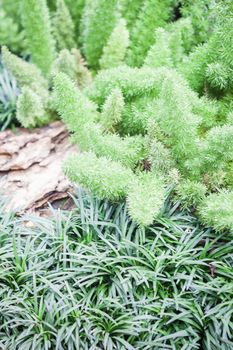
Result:
[[[232,2],[216,6],[213,34],[184,62],[182,70],[190,85],[199,92],[209,88],[214,94],[232,87]]]

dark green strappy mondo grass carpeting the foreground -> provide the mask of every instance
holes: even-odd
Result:
[[[169,201],[148,228],[125,204],[74,202],[52,218],[1,213],[0,347],[232,349],[231,233]]]

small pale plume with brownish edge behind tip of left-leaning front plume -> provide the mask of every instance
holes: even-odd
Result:
[[[92,82],[91,72],[78,49],[60,51],[51,69],[51,76],[65,73],[82,89]]]

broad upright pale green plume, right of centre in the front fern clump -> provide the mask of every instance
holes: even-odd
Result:
[[[156,102],[156,121],[166,135],[163,142],[171,147],[178,163],[193,157],[197,147],[200,119],[192,112],[189,93],[185,82],[171,72],[164,79]]]

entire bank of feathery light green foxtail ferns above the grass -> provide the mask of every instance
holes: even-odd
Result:
[[[48,9],[23,0],[12,16],[11,6],[3,25],[14,21],[17,35],[24,27],[29,54],[2,48],[21,89],[17,118],[27,127],[62,118],[97,164],[72,157],[71,180],[126,199],[140,225],[159,217],[170,192],[213,225],[203,208],[208,198],[219,207],[233,184],[232,1],[57,0]],[[229,229],[224,220],[216,230]]]

